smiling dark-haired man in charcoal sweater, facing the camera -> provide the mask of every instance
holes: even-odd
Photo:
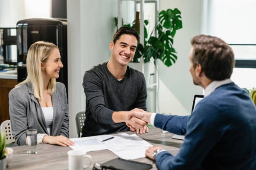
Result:
[[[128,120],[135,108],[146,110],[144,75],[128,66],[138,41],[134,29],[121,27],[109,45],[110,60],[85,72],[86,118],[82,137],[128,130],[148,132],[146,122],[136,117]]]

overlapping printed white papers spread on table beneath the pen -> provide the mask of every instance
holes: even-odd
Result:
[[[114,137],[102,142],[102,140]],[[96,151],[111,150],[123,159],[136,159],[145,157],[145,150],[152,146],[136,134],[128,135],[119,133],[113,135],[98,135],[85,138],[72,138],[75,145],[70,146],[73,150]]]

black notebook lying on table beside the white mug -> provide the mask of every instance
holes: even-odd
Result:
[[[108,170],[149,170],[152,164],[146,164],[137,161],[125,160],[122,158],[115,158],[107,161],[102,166],[109,167]]]

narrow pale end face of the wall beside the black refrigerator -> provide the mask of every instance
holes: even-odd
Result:
[[[70,137],[76,135],[76,112],[81,110],[81,17],[80,1],[67,0],[67,63]]]

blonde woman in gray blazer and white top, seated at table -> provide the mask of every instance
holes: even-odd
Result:
[[[63,67],[59,49],[38,41],[30,46],[27,78],[9,93],[12,133],[18,145],[26,144],[26,130],[37,129],[38,143],[73,145],[69,137],[67,93],[56,82]]]

